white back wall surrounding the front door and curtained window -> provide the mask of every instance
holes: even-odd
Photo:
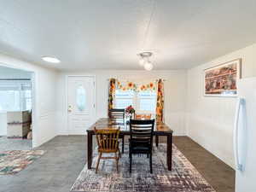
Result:
[[[166,79],[165,120],[174,135],[185,134],[185,101],[187,88],[186,71],[116,71],[96,70],[87,72],[61,73],[58,78],[58,134],[67,134],[67,75],[96,75],[96,119],[108,115],[108,79]]]

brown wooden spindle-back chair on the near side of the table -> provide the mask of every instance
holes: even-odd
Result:
[[[116,160],[116,169],[119,171],[119,129],[101,129],[96,130],[96,141],[98,145],[98,160],[96,164],[96,173],[98,172],[98,167],[100,160],[102,159],[114,159]],[[114,154],[114,156],[103,157],[102,154]]]

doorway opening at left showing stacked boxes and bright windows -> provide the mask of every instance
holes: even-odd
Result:
[[[0,152],[32,149],[33,77],[0,66]]]

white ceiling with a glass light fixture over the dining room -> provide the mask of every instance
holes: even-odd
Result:
[[[0,0],[0,52],[64,70],[189,68],[256,42],[255,0]],[[55,55],[48,64],[42,55]]]

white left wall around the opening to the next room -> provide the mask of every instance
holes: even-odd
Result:
[[[33,147],[37,147],[55,137],[55,99],[57,99],[55,97],[55,83],[57,73],[54,70],[38,67],[32,63],[2,54],[0,54],[0,65],[34,72]]]

